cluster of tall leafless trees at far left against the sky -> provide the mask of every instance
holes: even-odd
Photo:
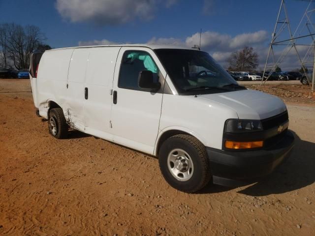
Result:
[[[22,27],[14,23],[2,24],[0,29],[0,46],[4,64],[7,65],[10,59],[18,70],[28,68],[30,55],[43,45],[44,34],[36,26]]]

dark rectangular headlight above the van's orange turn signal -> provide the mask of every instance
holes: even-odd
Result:
[[[228,119],[225,121],[224,131],[229,133],[252,132],[262,130],[260,120]]]

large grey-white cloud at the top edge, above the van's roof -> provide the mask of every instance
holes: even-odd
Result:
[[[171,7],[178,0],[57,0],[56,8],[71,22],[97,25],[124,24],[134,19],[149,20],[158,5]]]

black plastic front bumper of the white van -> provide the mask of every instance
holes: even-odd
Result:
[[[286,131],[279,143],[258,150],[226,151],[207,148],[214,179],[248,180],[270,174],[288,156],[294,136]]]

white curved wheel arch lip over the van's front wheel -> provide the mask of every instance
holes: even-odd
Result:
[[[190,136],[196,138],[204,146],[206,146],[205,140],[200,135],[198,135],[197,133],[195,133],[192,130],[189,130],[189,129],[184,128],[184,127],[178,127],[178,126],[176,126],[176,127],[167,127],[165,129],[163,129],[162,131],[160,131],[159,134],[158,134],[156,145],[155,145],[155,148],[154,148],[154,155],[158,156],[159,148],[161,147],[161,145],[163,144],[163,142],[165,140],[167,140],[168,138],[170,138],[170,137],[172,137],[174,135],[178,135],[178,134],[190,135]]]

